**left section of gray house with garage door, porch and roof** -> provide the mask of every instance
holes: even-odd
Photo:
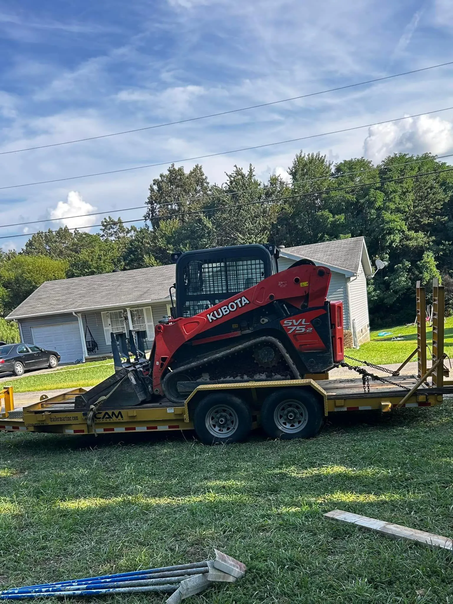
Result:
[[[111,332],[129,329],[150,349],[174,282],[174,265],[46,281],[7,320],[18,322],[22,342],[57,350],[62,363],[111,355]]]

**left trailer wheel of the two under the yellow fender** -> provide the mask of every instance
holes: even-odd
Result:
[[[208,394],[195,408],[193,426],[205,445],[237,443],[250,432],[252,414],[233,394]]]

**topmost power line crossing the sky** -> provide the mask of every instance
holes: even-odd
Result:
[[[260,103],[257,105],[250,105],[249,107],[242,107],[239,109],[230,109],[229,111],[220,111],[218,113],[209,114],[209,115],[200,115],[199,117],[191,117],[191,118],[187,118],[185,120],[169,121],[164,124],[156,124],[155,126],[145,126],[143,128],[135,128],[133,130],[123,130],[122,132],[112,132],[110,134],[101,134],[101,135],[98,135],[97,137],[77,138],[76,140],[63,141],[62,143],[51,143],[48,145],[40,145],[37,147],[26,147],[25,149],[14,149],[13,151],[3,151],[0,153],[0,155],[8,155],[9,153],[21,153],[22,151],[34,151],[36,149],[47,149],[48,147],[59,147],[62,145],[69,145],[72,143],[83,143],[85,141],[94,141],[99,138],[117,137],[121,134],[130,134],[132,132],[143,132],[143,130],[153,130],[155,128],[162,128],[164,126],[174,126],[175,124],[184,124],[184,123],[187,123],[190,121],[206,120],[207,118],[218,117],[219,115],[228,115],[228,114],[233,114],[233,113],[239,113],[240,111],[249,111],[249,109],[258,109],[260,107],[269,107],[271,105],[276,105],[278,103],[288,103],[288,101],[299,100],[300,98],[315,97],[320,94],[326,94],[327,92],[336,92],[339,90],[345,90],[347,88],[355,88],[356,86],[364,86],[365,84],[372,84],[374,82],[382,82],[383,80],[391,80],[392,78],[396,78],[396,77],[400,77],[400,76],[409,76],[410,74],[419,73],[420,71],[428,71],[428,69],[436,69],[437,67],[445,67],[446,65],[452,65],[452,64],[453,64],[453,61],[449,61],[448,63],[440,63],[439,65],[431,65],[429,67],[423,67],[421,69],[412,69],[411,71],[404,71],[399,74],[393,74],[392,76],[378,77],[378,78],[374,78],[373,80],[365,80],[365,82],[357,82],[355,84],[347,84],[345,86],[338,86],[336,88],[329,88],[327,90],[321,90],[318,92],[310,92],[309,94],[302,94],[298,97],[281,98],[278,101],[271,101],[270,103]]]

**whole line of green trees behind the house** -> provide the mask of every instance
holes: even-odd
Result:
[[[102,220],[100,233],[40,231],[0,256],[0,316],[43,281],[170,262],[174,251],[243,243],[286,247],[364,236],[387,266],[368,281],[374,324],[411,320],[414,285],[442,277],[453,310],[453,168],[435,156],[396,153],[380,164],[297,153],[289,179],[260,181],[234,166],[221,186],[201,165],[171,165],[153,179],[144,226]]]

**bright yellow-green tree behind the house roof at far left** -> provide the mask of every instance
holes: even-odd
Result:
[[[64,279],[68,262],[25,254],[0,263],[0,314],[7,315],[44,281]]]

